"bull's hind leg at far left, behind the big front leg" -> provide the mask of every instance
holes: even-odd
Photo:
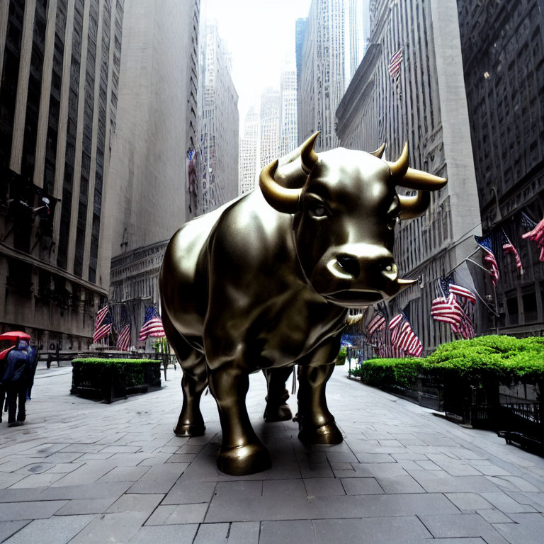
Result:
[[[178,358],[183,378],[183,406],[179,414],[178,424],[174,427],[176,436],[202,436],[206,429],[202,412],[200,412],[200,397],[208,385],[206,361],[203,353],[196,351],[187,343],[183,336],[174,329],[166,312],[162,315],[162,324],[176,357]]]

